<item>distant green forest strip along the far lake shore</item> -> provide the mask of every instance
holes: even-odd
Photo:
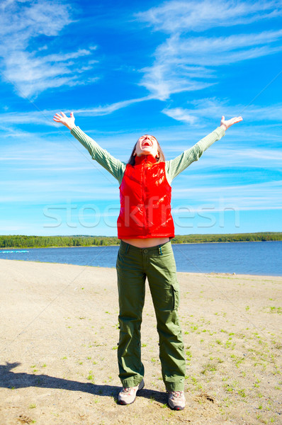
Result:
[[[203,242],[254,242],[281,241],[282,232],[186,234],[176,235],[173,244],[198,244]],[[55,246],[106,246],[118,245],[117,237],[108,236],[25,236],[0,235],[0,248],[50,248]]]

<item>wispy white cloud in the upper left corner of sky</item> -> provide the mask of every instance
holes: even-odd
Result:
[[[19,96],[35,98],[46,89],[98,79],[81,79],[96,64],[96,46],[66,53],[56,45],[59,52],[49,52],[48,38],[59,37],[72,23],[71,9],[63,1],[5,1],[0,10],[1,74]]]

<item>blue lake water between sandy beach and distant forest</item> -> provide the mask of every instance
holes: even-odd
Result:
[[[173,244],[177,271],[282,276],[282,241]],[[0,249],[0,259],[115,267],[118,246]]]

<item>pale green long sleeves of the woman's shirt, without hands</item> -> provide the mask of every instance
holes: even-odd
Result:
[[[123,180],[123,174],[125,172],[126,162],[122,162],[109,154],[106,149],[102,149],[95,140],[87,136],[79,127],[75,126],[71,130],[72,135],[84,145],[91,154],[92,159],[95,159],[98,164],[101,164],[104,169],[109,171],[120,184]],[[220,140],[225,135],[223,127],[216,128],[209,135],[203,137],[196,145],[190,149],[186,149],[178,157],[165,162],[165,170],[167,175],[167,181],[169,184],[176,178],[176,176],[184,171],[192,162],[198,161],[210,145]]]

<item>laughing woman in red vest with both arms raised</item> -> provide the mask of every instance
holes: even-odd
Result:
[[[171,181],[193,161],[198,161],[205,149],[220,140],[225,130],[239,123],[242,117],[225,120],[222,116],[220,127],[171,161],[165,161],[155,137],[143,135],[137,140],[128,164],[112,157],[74,125],[73,113],[70,118],[62,112],[56,113],[53,120],[69,128],[91,157],[120,183],[120,249],[116,268],[120,307],[118,366],[123,390],[118,402],[134,402],[137,390],[144,387],[140,328],[147,277],[157,317],[159,358],[169,407],[184,409],[186,369],[178,317],[179,283],[170,242],[174,237]]]

